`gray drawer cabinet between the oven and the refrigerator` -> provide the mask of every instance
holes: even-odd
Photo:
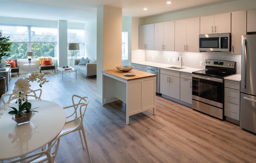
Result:
[[[239,124],[240,121],[240,82],[225,80],[224,83],[224,115],[226,120],[232,118],[234,123]]]

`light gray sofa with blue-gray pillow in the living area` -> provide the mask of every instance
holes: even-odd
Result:
[[[75,65],[73,66],[77,71],[87,76],[97,75],[97,63],[86,63],[86,65],[79,65],[80,59],[75,60]]]

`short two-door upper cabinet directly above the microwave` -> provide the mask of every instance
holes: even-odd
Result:
[[[200,34],[231,33],[231,13],[200,17]]]

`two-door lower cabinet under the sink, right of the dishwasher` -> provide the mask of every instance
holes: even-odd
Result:
[[[180,73],[160,69],[160,93],[179,100]]]

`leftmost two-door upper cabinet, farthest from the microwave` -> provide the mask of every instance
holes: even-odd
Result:
[[[154,50],[154,24],[139,26],[139,49]]]

